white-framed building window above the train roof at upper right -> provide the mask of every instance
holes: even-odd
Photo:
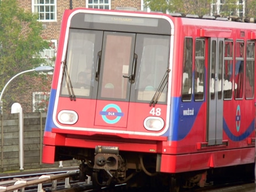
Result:
[[[245,13],[246,1],[237,0],[236,3],[231,3],[226,0],[215,0],[211,3],[211,15],[223,16],[239,16],[243,17]]]

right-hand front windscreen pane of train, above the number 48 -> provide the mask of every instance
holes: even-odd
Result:
[[[139,63],[138,80],[136,91],[137,99],[151,101],[161,84],[168,67],[169,40],[160,35],[147,35],[143,39],[143,54]],[[167,86],[158,99],[159,102],[166,100]]]

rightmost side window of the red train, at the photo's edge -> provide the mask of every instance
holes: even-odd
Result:
[[[254,97],[254,55],[255,44],[252,41],[246,45],[246,99]]]

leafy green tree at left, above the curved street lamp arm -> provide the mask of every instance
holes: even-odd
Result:
[[[0,90],[18,72],[45,63],[40,52],[49,48],[49,42],[41,37],[42,23],[37,18],[16,0],[0,1]]]

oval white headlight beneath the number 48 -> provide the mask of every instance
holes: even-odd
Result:
[[[144,127],[149,131],[159,131],[164,125],[163,119],[159,117],[148,117],[144,120]]]

